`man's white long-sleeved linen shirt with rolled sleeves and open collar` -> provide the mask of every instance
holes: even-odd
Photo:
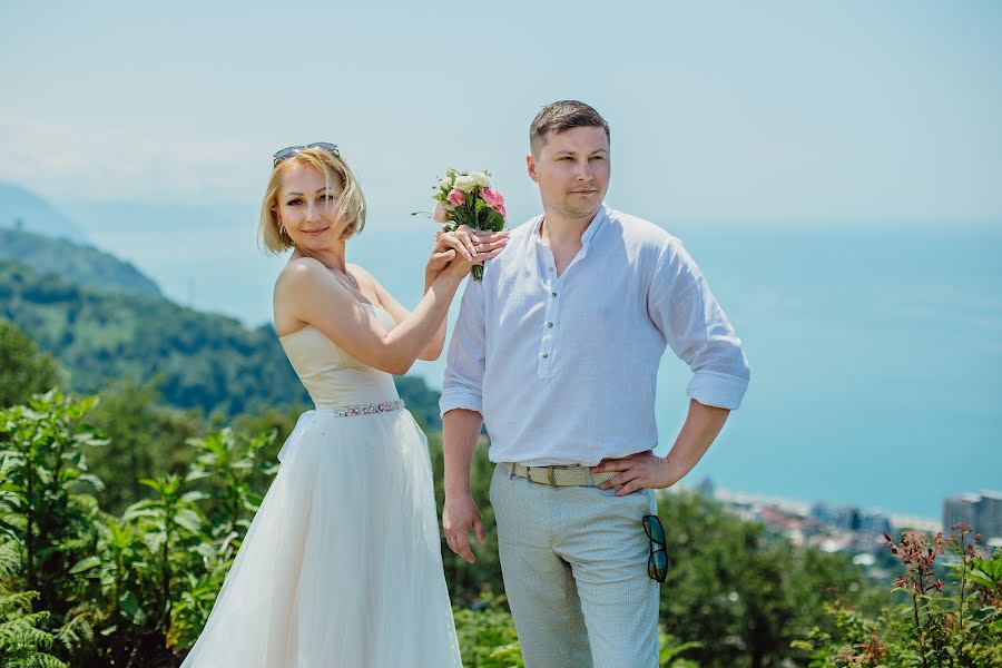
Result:
[[[483,415],[491,461],[592,466],[654,449],[666,344],[692,370],[690,397],[738,407],[740,341],[677,238],[603,204],[558,277],[541,222],[468,279],[449,346],[439,406]]]

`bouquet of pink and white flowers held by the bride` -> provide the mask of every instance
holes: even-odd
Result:
[[[436,186],[434,198],[439,202],[432,218],[442,224],[443,232],[453,232],[465,225],[472,229],[501,232],[504,229],[504,197],[491,189],[491,173],[456,171],[449,169]],[[473,279],[483,277],[483,266],[472,271]]]

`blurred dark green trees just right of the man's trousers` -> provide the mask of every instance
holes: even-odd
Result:
[[[661,621],[700,666],[759,668],[802,657],[790,642],[824,619],[823,601],[857,600],[864,582],[845,556],[767,539],[765,527],[679,491],[658,512],[668,542]]]

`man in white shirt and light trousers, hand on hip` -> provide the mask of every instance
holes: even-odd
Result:
[[[658,583],[641,518],[699,461],[748,385],[740,341],[679,240],[602,202],[609,125],[578,101],[529,129],[543,214],[469,281],[442,391],[449,547],[483,543],[470,494],[481,422],[504,590],[529,668],[658,662]],[[651,184],[655,186],[656,184]],[[692,370],[665,458],[655,387],[665,346]],[[671,527],[667,528],[670,531]]]

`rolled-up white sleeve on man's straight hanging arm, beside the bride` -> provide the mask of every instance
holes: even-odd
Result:
[[[442,415],[453,409],[466,409],[483,414],[485,340],[483,284],[469,278],[460,304],[455,332],[449,343],[442,399],[439,401]]]

